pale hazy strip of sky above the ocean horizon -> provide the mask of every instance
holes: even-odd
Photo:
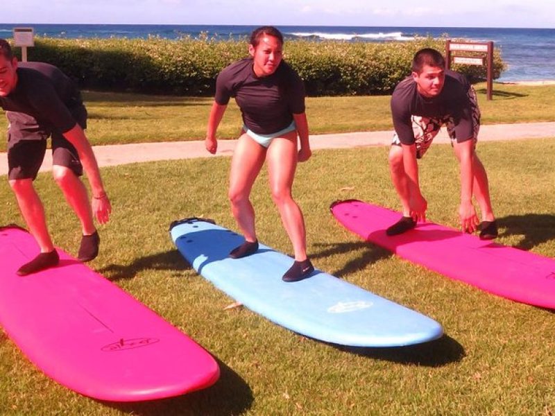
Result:
[[[6,0],[0,23],[555,28],[553,0]]]

